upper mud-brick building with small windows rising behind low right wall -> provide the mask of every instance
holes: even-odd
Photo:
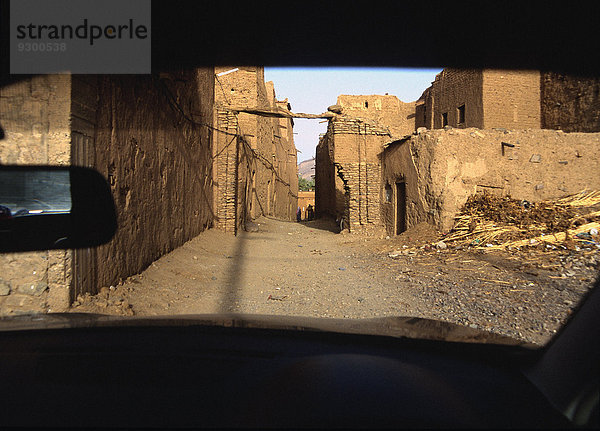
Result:
[[[597,77],[448,68],[435,77],[415,104],[414,130],[451,126],[600,131]]]

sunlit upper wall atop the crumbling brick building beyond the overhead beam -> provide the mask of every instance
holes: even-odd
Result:
[[[343,114],[377,123],[389,129],[392,136],[414,132],[415,102],[405,103],[393,95],[345,95],[337,98]]]

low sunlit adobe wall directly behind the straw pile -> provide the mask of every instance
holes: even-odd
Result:
[[[514,147],[504,146],[505,142]],[[540,201],[600,190],[600,133],[552,130],[431,130],[386,148],[386,184],[406,181],[407,227],[426,221],[442,231],[453,225],[467,198],[490,191]],[[382,218],[393,234],[393,203]]]

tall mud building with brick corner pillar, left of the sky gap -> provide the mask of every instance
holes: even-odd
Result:
[[[293,120],[240,112],[291,109],[277,101],[262,67],[215,69],[215,227],[237,232],[260,215],[295,220],[298,199]]]

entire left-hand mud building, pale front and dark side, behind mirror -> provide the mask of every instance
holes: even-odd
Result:
[[[98,248],[0,256],[2,313],[63,311],[212,224],[213,85],[206,68],[36,76],[0,90],[0,162],[95,168],[119,226]]]

